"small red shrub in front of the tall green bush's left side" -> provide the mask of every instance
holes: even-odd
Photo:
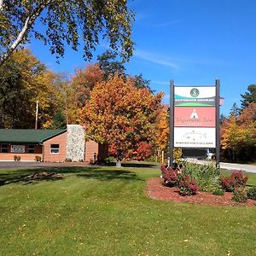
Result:
[[[195,180],[189,177],[189,175],[186,175],[183,173],[179,175],[178,187],[179,187],[179,194],[183,196],[195,195],[199,190],[199,187],[195,182]]]

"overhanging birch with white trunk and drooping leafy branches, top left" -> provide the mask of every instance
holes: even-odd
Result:
[[[57,56],[64,55],[65,44],[75,50],[84,44],[88,60],[102,36],[128,60],[133,50],[132,20],[126,0],[0,0],[0,66],[32,37],[49,44],[51,54]]]

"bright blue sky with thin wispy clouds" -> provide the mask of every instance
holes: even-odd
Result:
[[[143,74],[156,92],[164,91],[170,101],[169,84],[214,85],[220,80],[224,105],[229,115],[249,84],[256,84],[255,0],[134,0],[136,12],[132,39],[135,50],[125,63],[126,73]],[[73,73],[85,67],[83,52],[68,49],[60,64],[49,48],[32,40],[32,53],[55,72]],[[108,44],[102,41],[90,63],[96,63]]]

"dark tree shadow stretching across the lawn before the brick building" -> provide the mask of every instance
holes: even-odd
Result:
[[[32,178],[31,176],[36,173],[42,172],[55,172],[61,174],[61,177],[40,177]],[[73,174],[77,177],[84,177],[87,179],[99,179],[99,180],[140,180],[135,172],[129,172],[124,170],[102,170],[97,166],[93,167],[49,167],[38,169],[19,169],[9,170],[0,173],[0,186],[8,185],[10,183],[20,184],[35,184],[42,181],[57,181],[65,177],[65,175]]]

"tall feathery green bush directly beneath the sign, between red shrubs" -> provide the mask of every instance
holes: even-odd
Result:
[[[195,179],[202,191],[213,191],[219,186],[219,169],[212,163],[198,165],[195,163],[183,162],[184,173]]]

